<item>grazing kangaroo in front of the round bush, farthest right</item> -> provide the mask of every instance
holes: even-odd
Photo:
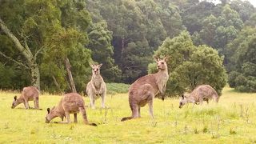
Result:
[[[194,103],[202,105],[203,101],[209,103],[210,99],[218,102],[218,94],[210,85],[197,86],[190,94],[182,94],[182,99],[179,102],[179,108],[182,108],[186,103]]]

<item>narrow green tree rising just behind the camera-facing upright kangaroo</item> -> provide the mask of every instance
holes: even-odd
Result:
[[[106,82],[120,82],[122,71],[114,64],[112,33],[106,22],[93,23],[88,29],[88,48],[95,62],[102,63],[101,74]]]

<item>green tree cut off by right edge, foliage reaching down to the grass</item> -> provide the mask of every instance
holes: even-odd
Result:
[[[243,34],[239,35],[230,45],[230,48],[234,50],[234,44],[240,41],[231,57],[234,60],[234,67],[229,74],[229,84],[230,87],[242,92],[256,92],[255,30],[255,28],[242,30]]]

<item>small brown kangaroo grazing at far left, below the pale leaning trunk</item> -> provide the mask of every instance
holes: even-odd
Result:
[[[11,108],[23,103],[26,109],[30,109],[29,101],[34,101],[34,109],[39,109],[39,90],[34,86],[24,87],[19,98],[15,95]]]

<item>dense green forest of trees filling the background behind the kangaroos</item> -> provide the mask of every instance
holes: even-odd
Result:
[[[242,0],[2,0],[0,43],[4,90],[82,92],[90,63],[130,84],[168,56],[170,95],[226,82],[256,92],[256,8]]]

